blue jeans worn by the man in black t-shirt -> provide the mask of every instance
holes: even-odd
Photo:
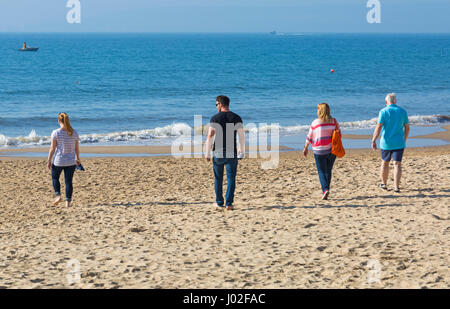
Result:
[[[214,169],[214,189],[216,191],[216,203],[218,206],[223,206],[223,169],[227,170],[227,194],[225,196],[225,205],[231,206],[234,201],[234,190],[236,189],[236,173],[237,173],[238,159],[232,158],[216,158],[213,157]]]

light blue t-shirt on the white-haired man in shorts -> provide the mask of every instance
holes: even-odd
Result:
[[[381,123],[381,141],[380,148],[383,150],[396,150],[406,147],[405,143],[405,124],[409,123],[406,111],[391,104],[380,111],[378,123]]]

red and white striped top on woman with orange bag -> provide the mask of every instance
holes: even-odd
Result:
[[[332,123],[325,123],[316,119],[311,123],[306,140],[312,145],[314,154],[326,155],[331,153],[333,131],[339,130],[339,123],[333,118]]]

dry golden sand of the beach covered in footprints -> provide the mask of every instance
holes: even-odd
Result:
[[[349,151],[322,201],[311,155],[245,159],[223,211],[202,159],[85,160],[65,208],[44,160],[6,158],[0,287],[449,288],[450,147],[407,149],[400,194],[377,188],[379,164]]]

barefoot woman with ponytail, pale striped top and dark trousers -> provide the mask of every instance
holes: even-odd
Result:
[[[64,171],[66,206],[70,207],[73,193],[73,174],[76,166],[81,165],[79,136],[77,131],[70,125],[70,119],[66,113],[58,114],[58,123],[60,128],[54,130],[51,135],[47,166],[52,172],[53,189],[56,194],[53,206],[58,205],[62,201],[59,177]]]

